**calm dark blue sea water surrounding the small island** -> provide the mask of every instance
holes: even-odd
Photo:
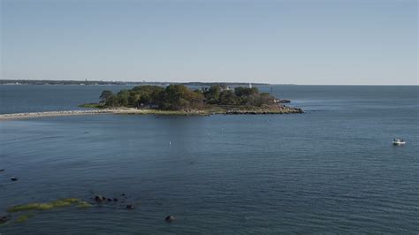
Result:
[[[0,86],[0,112],[78,109],[104,88],[121,87]],[[273,93],[307,113],[0,122],[0,215],[96,193],[137,206],[60,208],[0,233],[419,232],[418,87]]]

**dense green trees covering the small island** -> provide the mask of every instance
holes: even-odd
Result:
[[[168,87],[137,86],[124,89],[117,94],[103,91],[101,103],[107,107],[156,108],[161,110],[202,110],[214,105],[263,106],[274,103],[268,93],[259,93],[257,87],[235,87],[214,85],[191,90],[183,85]]]

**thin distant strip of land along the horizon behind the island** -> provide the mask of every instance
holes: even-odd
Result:
[[[160,82],[160,81],[103,81],[103,80],[0,80],[0,85],[156,85],[167,86],[180,84],[186,86],[213,86],[226,84],[229,86],[247,86],[242,82]],[[269,85],[265,83],[253,83],[256,86]]]

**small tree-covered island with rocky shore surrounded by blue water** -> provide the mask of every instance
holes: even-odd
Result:
[[[257,87],[227,87],[212,85],[190,89],[184,85],[167,87],[137,86],[113,94],[104,90],[100,102],[80,105],[84,108],[132,110],[132,113],[171,115],[210,114],[287,114],[303,110],[284,105],[269,93],[261,93]],[[126,111],[124,113],[129,113]]]

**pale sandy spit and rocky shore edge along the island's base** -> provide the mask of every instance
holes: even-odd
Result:
[[[226,110],[211,112],[208,110],[137,110],[126,109],[98,109],[98,110],[62,110],[0,114],[0,121],[27,119],[36,117],[62,117],[92,114],[137,114],[137,115],[171,115],[171,116],[209,116],[214,114],[238,115],[238,114],[290,114],[303,113],[301,109],[286,107],[283,110]]]

